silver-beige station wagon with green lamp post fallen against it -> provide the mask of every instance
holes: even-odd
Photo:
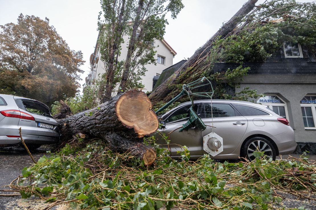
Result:
[[[179,127],[189,118],[191,102],[186,102],[159,116],[163,122],[162,133],[169,134],[171,156],[177,158],[181,146],[187,146],[191,159],[197,159],[203,150],[203,137],[212,131],[222,137],[223,151],[214,159],[238,159],[239,156],[254,159],[258,148],[275,160],[278,155],[292,153],[296,149],[294,131],[287,119],[277,115],[267,106],[235,100],[197,100],[194,110],[207,126],[205,130],[190,128],[179,132]],[[213,118],[212,118],[213,112]],[[213,126],[215,128],[212,128]],[[213,130],[212,130],[213,129]],[[163,138],[157,143],[166,144]]]

